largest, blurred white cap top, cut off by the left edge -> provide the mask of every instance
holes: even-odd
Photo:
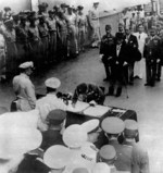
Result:
[[[41,145],[42,135],[38,129],[0,127],[0,158],[12,159]]]

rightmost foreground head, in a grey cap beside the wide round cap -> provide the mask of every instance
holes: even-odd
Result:
[[[138,136],[138,123],[134,120],[125,120],[124,137],[126,141],[136,141]]]

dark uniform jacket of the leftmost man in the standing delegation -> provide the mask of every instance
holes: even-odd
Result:
[[[108,59],[112,53],[112,46],[114,44],[114,36],[113,35],[104,35],[101,39],[100,46],[100,54],[104,54],[103,58]]]

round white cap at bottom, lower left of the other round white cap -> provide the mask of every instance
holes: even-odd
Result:
[[[55,145],[47,149],[43,162],[51,169],[60,170],[70,163],[71,150],[64,146]]]

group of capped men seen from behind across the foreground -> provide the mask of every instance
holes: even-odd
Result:
[[[9,141],[0,146],[2,173],[78,173],[80,169],[88,173],[149,172],[148,153],[135,141],[138,124],[133,120],[123,122],[112,116],[100,123],[96,119],[64,129],[66,113],[57,109],[47,116],[48,129],[40,133],[34,121],[25,122],[27,114],[35,116],[32,112],[22,112],[21,119],[17,114],[7,113],[0,119],[1,129],[8,134],[0,133],[1,144]],[[124,140],[120,144],[122,134]]]

